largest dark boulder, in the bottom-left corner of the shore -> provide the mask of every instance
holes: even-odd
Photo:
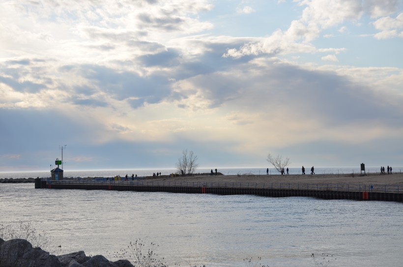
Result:
[[[41,248],[32,248],[24,239],[11,239],[0,244],[0,267],[61,267],[55,255]]]

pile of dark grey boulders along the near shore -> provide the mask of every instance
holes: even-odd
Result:
[[[111,262],[102,255],[86,256],[84,251],[55,256],[25,239],[0,238],[0,267],[133,267],[127,260]]]

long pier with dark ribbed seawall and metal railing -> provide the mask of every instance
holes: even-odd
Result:
[[[357,201],[403,202],[403,186],[312,183],[183,182],[146,180],[35,179],[35,188],[169,192],[187,194],[257,195],[262,197],[314,197]]]

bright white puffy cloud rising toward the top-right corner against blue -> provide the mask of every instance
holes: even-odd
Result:
[[[366,1],[365,5],[358,0],[296,0],[295,2],[304,9],[301,18],[291,21],[288,30],[278,29],[264,40],[249,40],[239,48],[229,48],[224,57],[313,53],[316,48],[309,42],[317,39],[323,30],[340,25],[345,21],[357,22],[367,13],[371,15],[390,14],[399,8],[397,0],[388,0],[385,5],[379,0]],[[400,15],[393,21],[380,19],[374,25],[388,29],[391,25],[400,27]],[[343,33],[346,29],[346,26],[342,26],[339,32]],[[389,38],[398,35],[398,31],[389,30],[375,35],[375,38]],[[330,36],[332,35],[325,35],[325,37]]]

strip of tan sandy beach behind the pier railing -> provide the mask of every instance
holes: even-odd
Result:
[[[393,173],[391,175],[367,174],[316,174],[316,175],[195,175],[192,177],[150,177],[146,180],[153,181],[189,181],[189,182],[251,182],[251,183],[320,183],[320,184],[387,184],[403,185],[403,174]]]

